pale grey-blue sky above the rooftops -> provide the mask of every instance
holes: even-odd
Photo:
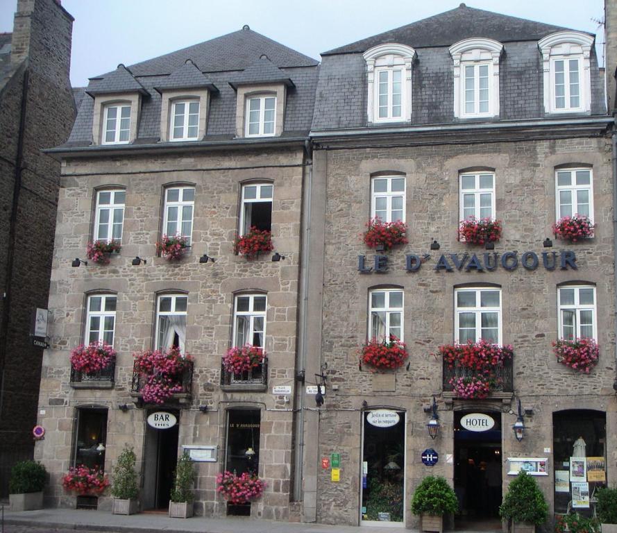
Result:
[[[319,53],[456,8],[460,0],[62,0],[75,17],[71,83],[191,44],[244,24],[317,60]],[[468,0],[486,9],[596,33],[602,0]],[[0,31],[12,31],[17,0],[0,0]],[[602,62],[602,50],[598,49]]]

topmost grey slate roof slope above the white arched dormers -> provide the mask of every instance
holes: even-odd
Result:
[[[462,3],[458,8],[450,11],[345,46],[339,46],[339,48],[323,52],[321,55],[362,53],[373,46],[387,42],[407,44],[407,46],[416,49],[450,46],[469,37],[489,37],[499,42],[538,41],[545,35],[566,29],[570,28],[470,8]]]

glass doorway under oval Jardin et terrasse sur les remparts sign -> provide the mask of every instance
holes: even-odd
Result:
[[[362,413],[360,525],[405,527],[405,413]]]

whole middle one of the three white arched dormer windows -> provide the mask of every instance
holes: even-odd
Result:
[[[503,45],[492,39],[464,39],[450,46],[454,63],[454,116],[499,116],[499,58]]]

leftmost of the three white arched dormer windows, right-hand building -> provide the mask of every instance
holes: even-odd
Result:
[[[414,49],[380,44],[364,53],[368,78],[366,115],[369,122],[402,122],[412,117]]]

